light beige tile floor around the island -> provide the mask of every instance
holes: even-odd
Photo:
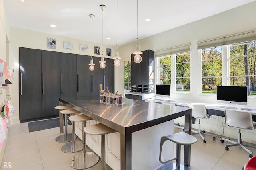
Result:
[[[55,137],[60,135],[59,127],[29,133],[28,123],[20,123],[8,127],[8,130],[9,138],[0,170],[74,170],[69,162],[77,153],[64,153],[60,150],[64,143],[55,142]],[[174,128],[174,131],[176,133],[181,129]],[[68,132],[71,132],[71,125],[68,125]],[[228,142],[221,143],[217,137],[214,141],[212,137],[206,136],[206,143],[202,142],[199,135],[195,137],[198,142],[191,149],[192,170],[242,170],[248,162],[249,154],[238,146],[226,151],[224,145]],[[256,153],[256,149],[251,150]],[[4,162],[11,162],[12,168],[5,168]],[[183,153],[181,162],[183,163]],[[88,170],[100,169],[99,162]]]

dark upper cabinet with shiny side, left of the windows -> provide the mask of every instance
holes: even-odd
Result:
[[[142,84],[146,92],[154,93],[154,57],[155,52],[152,50],[142,51],[142,61],[135,63],[133,58],[134,54],[131,55],[131,72],[132,72],[132,86],[136,84]]]

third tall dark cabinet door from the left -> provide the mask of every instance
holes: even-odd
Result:
[[[75,97],[77,92],[76,54],[61,53],[60,74],[60,97]]]

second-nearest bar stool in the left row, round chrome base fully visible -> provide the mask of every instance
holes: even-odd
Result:
[[[70,118],[72,120],[83,121],[82,123],[83,152],[80,152],[79,154],[76,154],[75,156],[72,157],[70,166],[78,170],[90,168],[96,165],[100,160],[99,156],[94,152],[86,152],[86,134],[84,133],[84,128],[86,126],[86,121],[92,120],[92,119],[84,114],[71,116]]]

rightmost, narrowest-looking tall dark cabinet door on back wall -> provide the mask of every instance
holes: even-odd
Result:
[[[104,68],[103,76],[103,87],[106,89],[108,87],[109,92],[114,93],[115,90],[115,65],[114,59],[105,58],[106,67]],[[106,89],[107,90],[107,89]],[[119,92],[121,93],[121,92]]]

